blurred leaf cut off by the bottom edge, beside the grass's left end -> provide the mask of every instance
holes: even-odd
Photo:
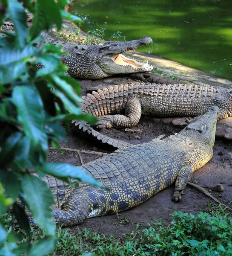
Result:
[[[57,239],[54,237],[44,237],[40,241],[32,244],[29,250],[29,256],[44,256],[48,255],[55,249]]]

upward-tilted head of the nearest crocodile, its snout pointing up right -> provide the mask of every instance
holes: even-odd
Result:
[[[213,106],[201,116],[197,116],[184,130],[195,130],[204,135],[208,144],[213,147],[215,142],[216,124],[220,110],[218,106]]]

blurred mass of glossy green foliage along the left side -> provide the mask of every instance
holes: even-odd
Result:
[[[29,169],[41,177],[50,174],[67,182],[72,177],[100,186],[80,168],[46,162],[49,145],[59,149],[58,140],[66,139],[60,120],[66,122],[66,128],[72,119],[95,122],[92,116],[81,112],[80,85],[65,73],[62,48],[44,44],[45,39],[40,37],[53,24],[61,29],[62,17],[80,22],[80,18],[63,11],[67,3],[68,0],[1,1],[0,25],[13,21],[15,33],[4,31],[5,36],[0,36],[0,216],[10,208],[17,224],[31,237],[26,206],[45,236],[30,243],[0,221],[0,255],[43,256],[55,248],[52,193]],[[26,12],[34,15],[30,29]],[[35,41],[39,47],[34,46]],[[32,72],[39,63],[44,67]]]

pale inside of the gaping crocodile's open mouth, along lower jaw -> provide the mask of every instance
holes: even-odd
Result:
[[[122,54],[113,55],[112,60],[117,65],[129,66],[129,67],[131,67],[132,69],[135,69],[135,70],[140,69],[141,71],[151,71],[153,69],[153,67],[150,66],[147,63],[140,63],[138,61],[135,61],[134,59],[127,58],[126,56],[124,56]]]

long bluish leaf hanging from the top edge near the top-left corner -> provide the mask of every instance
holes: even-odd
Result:
[[[17,41],[20,48],[26,44],[28,27],[26,21],[26,12],[23,6],[14,0],[7,0],[9,17],[14,22],[14,29],[17,33]]]

